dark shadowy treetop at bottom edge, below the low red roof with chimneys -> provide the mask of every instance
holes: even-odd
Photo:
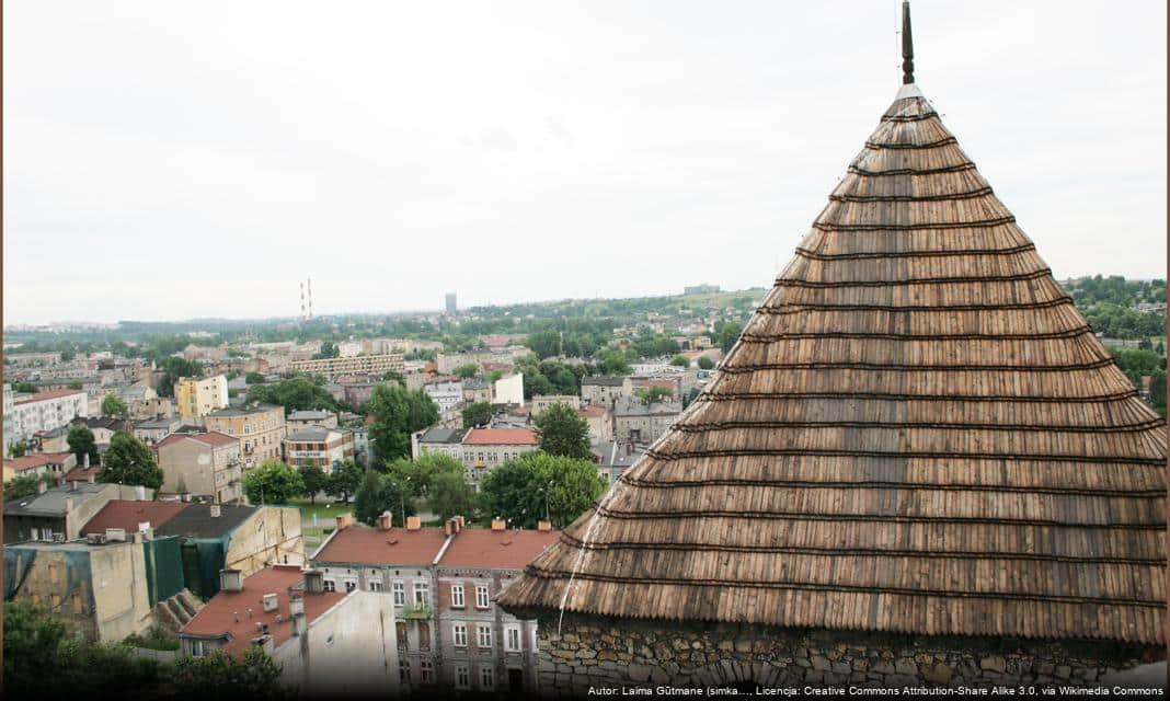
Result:
[[[242,657],[215,651],[209,655],[183,655],[174,662],[172,683],[192,699],[280,699],[281,666],[252,645]]]

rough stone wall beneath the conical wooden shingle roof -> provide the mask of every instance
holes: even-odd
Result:
[[[1163,647],[1116,642],[918,637],[727,624],[539,620],[538,675],[546,696],[591,686],[902,687],[1093,686],[1164,659]]]

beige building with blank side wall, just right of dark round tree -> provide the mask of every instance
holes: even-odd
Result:
[[[215,503],[242,502],[243,461],[239,438],[226,433],[173,433],[154,452],[163,470],[163,494],[206,496]]]

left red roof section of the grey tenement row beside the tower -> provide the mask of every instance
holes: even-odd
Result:
[[[321,563],[426,566],[434,562],[447,534],[441,528],[378,530],[350,525],[332,535],[312,558]]]

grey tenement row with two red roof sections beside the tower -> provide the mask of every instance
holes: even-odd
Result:
[[[464,528],[377,528],[338,517],[338,528],[311,557],[326,591],[380,592],[395,610],[399,679],[419,692],[537,690],[536,621],[496,607],[496,597],[559,532]]]

